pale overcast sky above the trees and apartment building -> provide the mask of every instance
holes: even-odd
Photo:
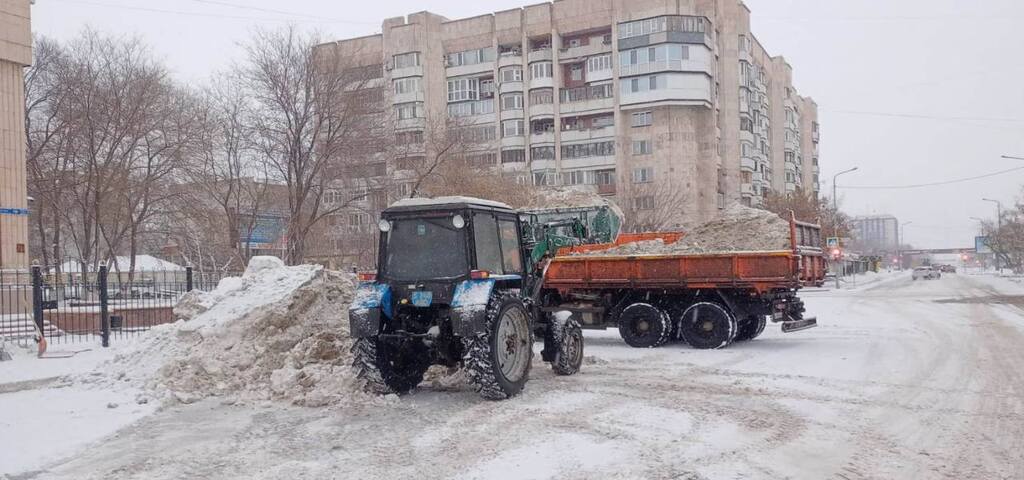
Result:
[[[328,39],[379,33],[384,17],[429,9],[450,18],[536,0],[37,0],[33,28],[57,39],[86,26],[139,35],[182,81],[202,83],[239,58],[255,27],[287,23]],[[921,247],[973,245],[994,218],[982,198],[1014,202],[1024,170],[1024,20],[1019,0],[748,0],[755,35],[786,57],[803,95],[820,106],[822,187],[841,178],[852,214],[889,213]],[[238,8],[240,5],[246,8]],[[291,14],[285,14],[291,13]]]

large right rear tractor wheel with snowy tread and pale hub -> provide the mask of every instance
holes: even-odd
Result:
[[[464,341],[469,382],[481,397],[503,400],[522,391],[534,361],[534,333],[522,301],[508,294],[493,298],[484,332]]]

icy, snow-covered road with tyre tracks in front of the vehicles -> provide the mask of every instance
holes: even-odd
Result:
[[[581,375],[535,363],[510,401],[208,401],[22,478],[1024,478],[1024,289],[900,276],[805,297],[821,326],[728,350],[588,333]]]

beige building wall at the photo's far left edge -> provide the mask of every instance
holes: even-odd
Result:
[[[0,270],[29,265],[23,69],[31,61],[29,0],[0,0]]]

